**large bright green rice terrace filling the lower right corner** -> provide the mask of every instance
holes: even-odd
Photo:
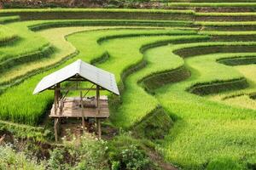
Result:
[[[255,111],[218,104],[186,92],[195,82],[211,81],[210,76],[214,79],[241,77],[238,71],[213,62],[210,56],[185,59],[192,77],[156,91],[160,105],[176,117],[160,150],[168,161],[185,169],[212,165],[222,165],[224,169],[247,168],[246,162],[256,154],[253,151]],[[223,54],[214,56],[216,59]]]

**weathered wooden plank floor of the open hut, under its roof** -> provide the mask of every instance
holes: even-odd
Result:
[[[100,97],[100,111],[96,108],[96,99],[83,99],[84,101],[84,117],[108,118],[108,98]],[[62,114],[60,109],[55,115],[55,106],[52,106],[50,117],[82,117],[82,108],[80,106],[80,98],[67,98],[64,102]]]

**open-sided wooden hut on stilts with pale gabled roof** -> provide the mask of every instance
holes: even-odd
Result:
[[[66,82],[66,83],[65,83]],[[70,83],[68,83],[70,82]],[[82,86],[90,82],[90,88]],[[73,84],[73,86],[68,86]],[[98,136],[101,138],[101,120],[109,117],[108,97],[101,96],[100,91],[108,90],[119,95],[115,77],[108,71],[103,71],[81,59],[44,77],[35,88],[33,94],[49,89],[54,91],[54,104],[49,117],[55,119],[55,140],[58,139],[57,129],[64,117],[79,117],[84,128],[85,118],[96,118]],[[96,91],[95,96],[87,97],[89,91]],[[79,91],[78,97],[67,97],[70,91]]]

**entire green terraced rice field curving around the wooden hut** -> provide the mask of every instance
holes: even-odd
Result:
[[[164,137],[150,136],[166,161],[183,169],[255,168],[256,3],[168,6],[1,10],[1,120],[39,126],[53,94],[32,95],[36,84],[82,59],[117,79],[113,126],[133,131],[149,116],[172,118]]]

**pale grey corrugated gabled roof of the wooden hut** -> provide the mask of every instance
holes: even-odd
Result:
[[[34,89],[33,94],[43,92],[44,90],[55,86],[55,84],[63,82],[76,75],[79,75],[80,77],[83,77],[84,79],[93,82],[110,92],[113,92],[113,94],[119,95],[119,89],[112,73],[103,71],[94,65],[85,63],[81,59],[78,59],[61,70],[55,71],[44,77]]]

